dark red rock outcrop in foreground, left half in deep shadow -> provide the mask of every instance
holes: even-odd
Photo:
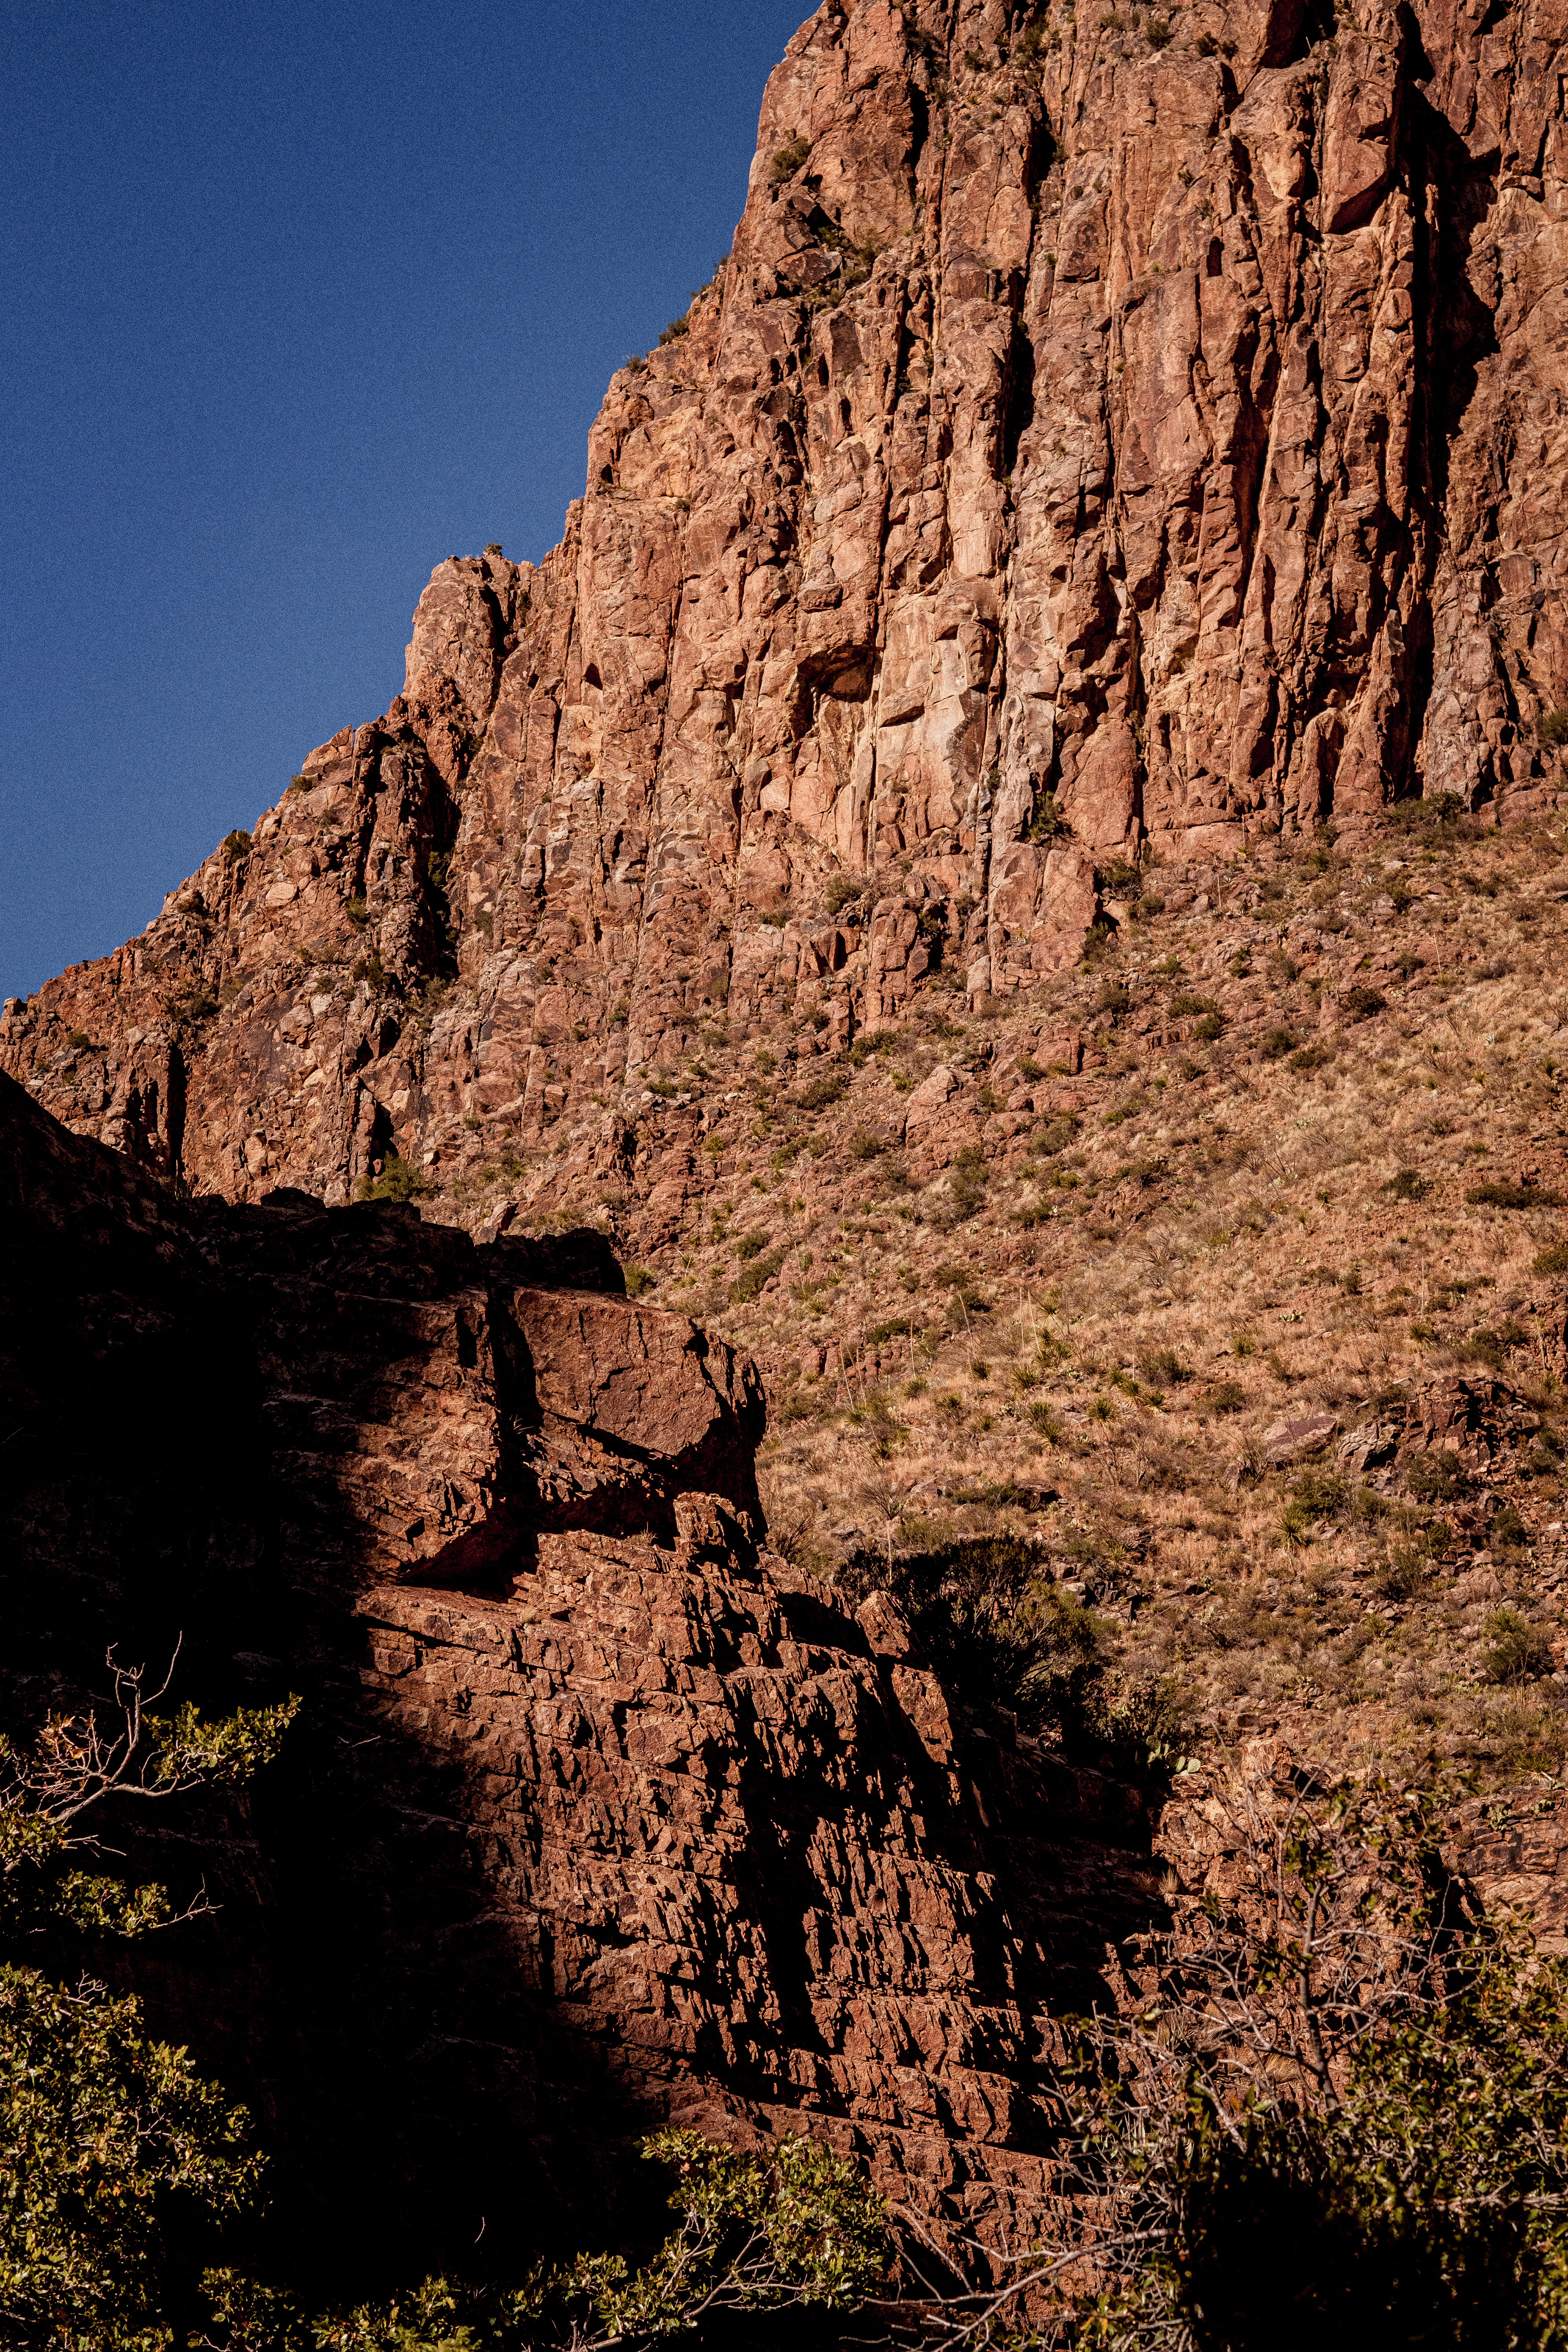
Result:
[[[9,1080],[0,1214],[7,1715],[108,1642],[306,1696],[254,1806],[153,1853],[221,1910],[148,1980],[301,2241],[407,2272],[484,2225],[515,2272],[665,2117],[1039,2213],[1051,2016],[1154,1915],[1152,1823],[766,1550],[748,1362],[595,1235],[181,1204]]]

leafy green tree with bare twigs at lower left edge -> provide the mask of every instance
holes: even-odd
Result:
[[[155,1717],[141,1668],[113,1670],[110,1729],[54,1715],[31,1748],[0,1738],[0,1933],[12,1952],[49,1929],[143,1936],[174,1910],[99,1860],[103,1806],[235,1785],[266,1764],[299,1700],[202,1722]],[[169,1677],[150,1693],[165,1696]],[[219,2220],[261,2173],[247,2114],[183,2049],[146,2034],[141,2006],[89,1976],[54,1983],[0,1962],[0,2333],[40,2352],[158,2352],[165,2225],[179,2199]]]

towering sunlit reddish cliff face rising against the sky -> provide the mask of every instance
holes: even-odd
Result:
[[[614,1190],[703,1023],[1048,997],[1145,840],[1556,804],[1561,31],[830,0],[562,543],[440,564],[390,713],[5,1068],[197,1190],[397,1152],[477,1223],[473,1122]]]

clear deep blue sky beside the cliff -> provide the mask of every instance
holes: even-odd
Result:
[[[0,995],[381,713],[435,562],[555,543],[804,14],[12,0]]]

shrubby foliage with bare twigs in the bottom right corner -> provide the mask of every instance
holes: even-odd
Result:
[[[1084,2347],[1568,2345],[1568,1969],[1481,1926],[1436,1804],[1222,1799],[1227,1896],[1091,2020]]]

